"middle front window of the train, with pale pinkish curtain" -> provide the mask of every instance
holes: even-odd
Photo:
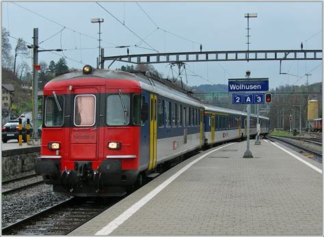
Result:
[[[75,97],[74,123],[78,127],[91,127],[96,123],[96,97],[94,95]]]

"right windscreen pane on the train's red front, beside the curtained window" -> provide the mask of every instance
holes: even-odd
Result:
[[[129,124],[129,95],[108,95],[106,123],[111,126]]]

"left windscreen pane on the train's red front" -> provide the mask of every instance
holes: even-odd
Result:
[[[64,96],[57,95],[46,97],[45,100],[45,125],[48,127],[61,127],[64,123]]]

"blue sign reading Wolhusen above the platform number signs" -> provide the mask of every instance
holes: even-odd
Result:
[[[243,91],[268,91],[269,78],[230,78],[228,79],[229,92],[243,92]]]

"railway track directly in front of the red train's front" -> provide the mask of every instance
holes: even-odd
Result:
[[[120,197],[109,199],[72,197],[67,201],[4,227],[2,234],[18,236],[66,235],[110,208],[120,199]]]

